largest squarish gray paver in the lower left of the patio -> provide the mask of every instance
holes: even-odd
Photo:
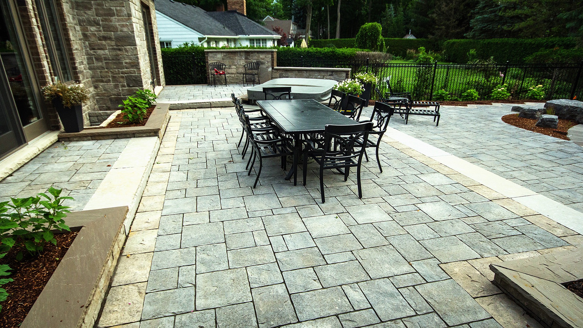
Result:
[[[245,268],[196,275],[196,309],[218,308],[251,301]]]

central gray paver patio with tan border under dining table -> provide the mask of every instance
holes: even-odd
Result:
[[[363,198],[354,175],[329,172],[322,204],[315,165],[293,186],[273,160],[251,187],[233,109],[172,119],[99,327],[538,328],[487,266],[583,245],[388,137],[384,172],[364,164]]]

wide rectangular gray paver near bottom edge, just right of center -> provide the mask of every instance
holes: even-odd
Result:
[[[317,289],[291,295],[297,317],[301,321],[350,312],[350,302],[340,287]]]

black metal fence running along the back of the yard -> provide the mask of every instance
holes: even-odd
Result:
[[[206,81],[204,57],[163,54],[167,85],[202,84]],[[368,60],[313,60],[278,58],[279,67],[350,68],[352,72],[373,72],[387,91],[412,92],[415,99],[432,100],[437,90],[446,90],[452,99],[475,89],[480,100],[491,99],[498,85],[507,85],[512,99],[527,99],[533,86],[542,85],[545,99],[574,99],[583,95],[583,63],[580,64],[389,64]],[[375,95],[376,96],[376,95]]]

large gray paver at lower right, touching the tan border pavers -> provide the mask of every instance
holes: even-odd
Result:
[[[415,288],[449,326],[490,317],[454,280],[429,282]]]

